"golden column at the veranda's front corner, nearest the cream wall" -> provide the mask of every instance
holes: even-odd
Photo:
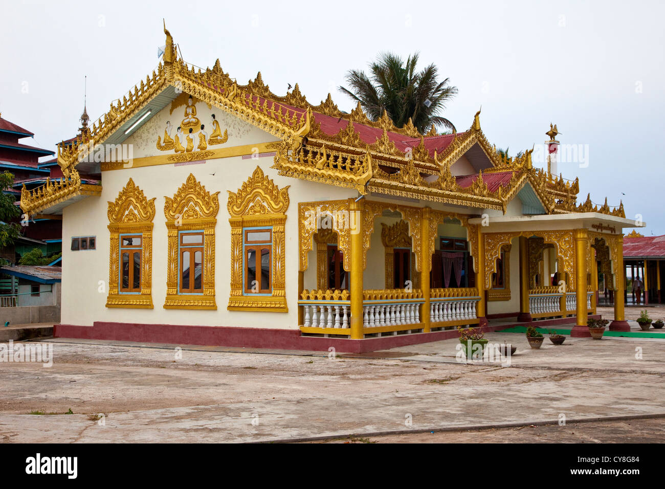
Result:
[[[351,339],[362,339],[362,218],[364,202],[348,200],[348,225],[351,235]]]

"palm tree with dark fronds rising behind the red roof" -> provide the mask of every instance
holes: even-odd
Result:
[[[457,94],[457,87],[450,86],[448,78],[438,82],[434,64],[416,73],[417,63],[418,53],[408,57],[406,63],[393,53],[382,53],[370,63],[370,75],[350,70],[346,73],[350,89],[340,86],[339,90],[360,102],[371,120],[378,120],[386,110],[398,128],[411,118],[421,133],[432,124],[454,130],[453,123],[438,114]]]

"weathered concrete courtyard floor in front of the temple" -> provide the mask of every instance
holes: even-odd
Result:
[[[334,359],[327,352],[44,340],[53,345],[53,367],[0,363],[0,440],[665,439],[665,337],[567,337],[560,347],[545,339],[539,350],[523,334],[487,337],[518,347],[509,367],[459,363],[456,339]]]

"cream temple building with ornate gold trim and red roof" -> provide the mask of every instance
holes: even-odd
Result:
[[[588,336],[594,263],[623,293],[622,205],[578,203],[531,150],[502,158],[479,112],[396,128],[196,71],[165,32],[164,63],[59,146],[65,178],[21,194],[63,218],[55,335],[366,351],[513,317]],[[629,329],[622,302],[614,319]]]

